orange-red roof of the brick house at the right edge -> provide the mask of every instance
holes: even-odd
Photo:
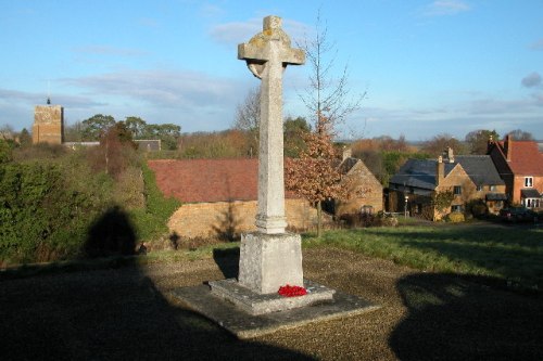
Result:
[[[504,156],[504,143],[500,142]],[[543,154],[534,141],[513,141],[510,162],[507,163],[515,175],[543,176]]]

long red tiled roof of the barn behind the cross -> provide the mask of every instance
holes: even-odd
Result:
[[[184,203],[256,201],[258,159],[149,160],[159,189]],[[292,195],[287,194],[287,197]]]

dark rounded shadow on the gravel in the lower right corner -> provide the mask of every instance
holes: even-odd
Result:
[[[543,302],[472,283],[418,273],[397,284],[408,310],[389,344],[401,360],[543,360]]]

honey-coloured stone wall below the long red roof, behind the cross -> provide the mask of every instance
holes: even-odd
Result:
[[[288,228],[316,228],[317,211],[304,199],[286,199]],[[168,228],[181,238],[237,238],[242,232],[255,231],[256,201],[184,204],[171,217]],[[329,217],[324,219],[330,222]]]

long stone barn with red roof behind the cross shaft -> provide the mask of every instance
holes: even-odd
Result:
[[[256,230],[256,158],[168,159],[148,164],[160,190],[182,202],[168,221],[172,233],[185,238],[231,240]],[[316,225],[316,209],[305,199],[287,192],[285,209],[289,230]]]

